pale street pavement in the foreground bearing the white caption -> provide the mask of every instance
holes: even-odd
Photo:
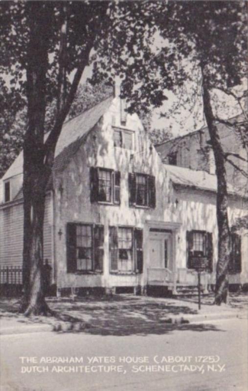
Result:
[[[142,334],[2,335],[1,391],[247,391],[247,330],[233,318]]]

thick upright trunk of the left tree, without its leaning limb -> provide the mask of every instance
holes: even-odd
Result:
[[[43,286],[43,221],[45,188],[50,170],[44,164],[46,72],[48,68],[49,5],[29,4],[27,48],[27,118],[23,145],[23,300],[25,315],[47,314]]]

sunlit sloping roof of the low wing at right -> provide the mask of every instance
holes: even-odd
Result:
[[[208,174],[205,171],[191,170],[185,167],[164,164],[166,171],[170,174],[172,182],[177,186],[201,189],[217,192],[216,175]],[[227,183],[228,194],[242,196],[230,183]]]

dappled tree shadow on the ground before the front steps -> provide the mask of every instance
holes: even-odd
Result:
[[[59,304],[54,309],[60,312]],[[63,315],[67,322],[78,322],[84,319],[87,313],[89,327],[85,332],[94,335],[149,335],[167,334],[175,329],[192,331],[221,331],[210,324],[180,324],[180,318],[197,314],[187,306],[147,303],[146,305],[108,305],[105,307],[87,307],[85,304],[67,308],[69,315]],[[74,317],[74,319],[71,318]],[[175,318],[174,323],[167,323],[170,317]],[[178,321],[178,322],[177,322]],[[73,327],[65,332],[73,332]]]

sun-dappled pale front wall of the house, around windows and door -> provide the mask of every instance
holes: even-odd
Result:
[[[149,264],[149,227],[147,221],[180,223],[175,231],[175,262],[186,268],[186,231],[206,230],[213,233],[214,267],[217,261],[216,195],[198,190],[176,191],[160,158],[151,146],[138,117],[127,116],[126,126],[120,125],[119,100],[115,98],[110,109],[87,136],[87,140],[70,160],[64,171],[54,173],[55,197],[55,259],[58,288],[79,286],[126,286],[146,284]],[[135,150],[113,145],[113,128],[134,130]],[[121,173],[121,204],[106,205],[90,202],[90,167],[103,167]],[[128,173],[151,174],[156,177],[156,208],[129,206]],[[175,200],[178,199],[176,206]],[[230,222],[247,213],[247,205],[230,199]],[[104,225],[103,274],[67,273],[66,225],[68,222],[99,223]],[[109,226],[124,225],[143,229],[144,273],[134,275],[110,274]],[[61,231],[59,237],[57,233]],[[245,251],[246,241],[242,241]],[[243,251],[243,250],[242,250]],[[244,252],[243,251],[243,252]],[[244,257],[243,257],[244,259]],[[246,266],[247,267],[247,266]],[[242,268],[242,279],[248,280],[248,271]],[[189,278],[191,278],[189,276]],[[242,281],[243,281],[242,280]],[[192,277],[192,282],[195,277]],[[214,274],[209,282],[214,281]]]

